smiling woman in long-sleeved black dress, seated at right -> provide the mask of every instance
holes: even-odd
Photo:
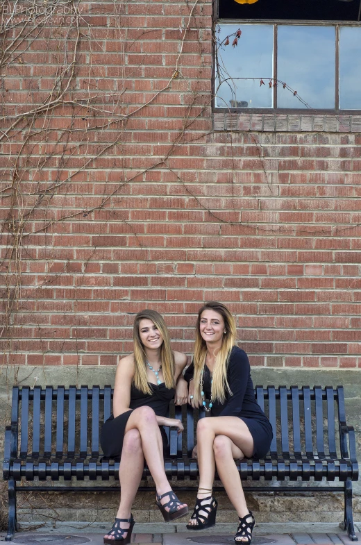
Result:
[[[217,500],[212,495],[215,469],[237,511],[235,542],[249,544],[255,524],[244,498],[234,462],[262,458],[269,451],[272,428],[255,401],[249,359],[235,345],[235,319],[217,301],[205,303],[196,323],[194,358],[185,372],[190,383],[189,403],[205,409],[199,419],[193,455],[199,463],[199,489],[188,530],[215,525]]]

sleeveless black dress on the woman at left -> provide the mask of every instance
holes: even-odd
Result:
[[[165,383],[160,385],[149,383],[149,386],[152,393],[144,394],[133,384],[131,387],[131,403],[129,403],[130,409],[119,414],[119,417],[116,418],[111,415],[104,422],[101,428],[100,444],[106,458],[120,458],[126,423],[134,409],[147,405],[154,410],[158,417],[167,417],[169,403],[174,399],[176,390],[167,388]],[[160,426],[160,433],[162,433],[163,446],[167,446],[168,440],[163,426]]]

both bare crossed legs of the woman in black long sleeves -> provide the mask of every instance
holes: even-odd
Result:
[[[237,417],[203,418],[198,422],[196,435],[199,488],[212,489],[217,466],[219,478],[238,517],[246,516],[249,509],[246,505],[240,473],[234,460],[245,456],[249,458],[253,454],[253,437],[249,428]],[[199,499],[205,496],[209,496],[209,493],[197,494]],[[193,524],[196,524],[196,521],[191,519],[190,525]]]

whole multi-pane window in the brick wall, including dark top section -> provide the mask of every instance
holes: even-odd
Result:
[[[215,108],[361,110],[360,0],[238,1],[219,0]]]

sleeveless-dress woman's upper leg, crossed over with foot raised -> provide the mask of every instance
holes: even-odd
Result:
[[[171,485],[167,480],[163,459],[163,443],[160,429],[157,422],[156,413],[148,406],[133,410],[126,424],[126,432],[137,429],[140,433],[142,442],[142,451],[149,471],[156,483],[157,494],[161,496],[171,490]],[[169,501],[169,496],[162,498],[164,505]],[[178,510],[186,507],[185,503],[178,505]],[[166,508],[169,510],[169,508]]]

